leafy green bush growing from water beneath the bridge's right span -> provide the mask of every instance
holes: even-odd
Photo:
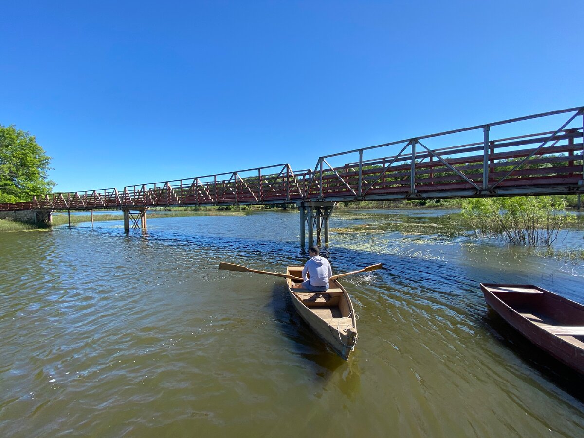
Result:
[[[566,201],[551,196],[466,199],[461,215],[475,234],[505,238],[512,245],[550,246],[575,221]]]

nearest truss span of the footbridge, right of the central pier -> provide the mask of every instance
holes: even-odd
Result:
[[[511,125],[536,119],[539,126],[541,120],[552,116],[551,123],[558,123],[562,116],[560,120],[564,122],[559,122],[553,131],[489,138],[492,127],[505,126],[507,131],[515,131],[517,127]],[[326,155],[318,159],[311,172],[305,199],[476,196],[525,192],[526,186],[578,186],[584,179],[583,125],[584,107],[578,107]],[[477,136],[477,131],[482,141],[442,148],[430,146],[438,137],[461,133]],[[367,158],[390,148],[399,152]],[[347,162],[351,157],[358,161]],[[439,191],[442,196],[437,196]]]

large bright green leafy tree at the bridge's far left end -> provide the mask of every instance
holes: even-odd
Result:
[[[0,124],[0,203],[26,202],[35,194],[50,193],[47,178],[51,157],[25,131]]]

